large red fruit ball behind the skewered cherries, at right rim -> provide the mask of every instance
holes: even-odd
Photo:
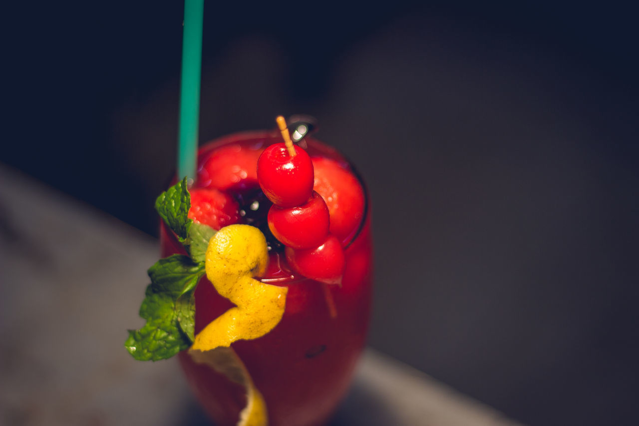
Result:
[[[326,201],[330,233],[346,243],[364,217],[364,189],[357,177],[334,160],[313,158],[313,168],[313,189]]]

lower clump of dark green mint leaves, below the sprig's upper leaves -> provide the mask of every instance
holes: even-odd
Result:
[[[130,330],[125,347],[135,359],[158,361],[187,349],[194,340],[194,291],[204,275],[203,262],[173,255],[158,260],[140,306],[146,324]]]

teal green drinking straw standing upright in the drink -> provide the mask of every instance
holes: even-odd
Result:
[[[196,177],[204,0],[185,0],[182,39],[178,178]]]

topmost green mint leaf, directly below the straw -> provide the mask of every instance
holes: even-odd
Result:
[[[155,200],[155,210],[164,222],[178,235],[180,242],[184,242],[189,235],[189,227],[193,222],[189,219],[191,196],[187,189],[187,178],[173,185]]]

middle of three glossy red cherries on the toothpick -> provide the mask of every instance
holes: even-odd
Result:
[[[268,210],[268,228],[285,246],[317,247],[328,235],[328,207],[315,191],[309,201],[298,207],[273,204]]]

